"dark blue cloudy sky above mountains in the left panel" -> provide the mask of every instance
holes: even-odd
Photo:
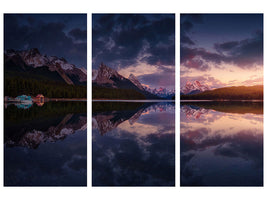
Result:
[[[31,48],[87,68],[87,15],[5,14],[4,49]]]

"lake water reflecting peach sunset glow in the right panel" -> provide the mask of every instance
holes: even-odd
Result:
[[[263,186],[263,102],[181,102],[181,186]]]

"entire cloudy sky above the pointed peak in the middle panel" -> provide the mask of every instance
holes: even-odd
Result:
[[[93,14],[92,67],[103,62],[150,87],[175,87],[174,14]]]

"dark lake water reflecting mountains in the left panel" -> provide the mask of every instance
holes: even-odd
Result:
[[[86,186],[86,102],[5,105],[5,186]]]

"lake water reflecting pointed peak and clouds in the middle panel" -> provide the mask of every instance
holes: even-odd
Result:
[[[93,186],[175,185],[175,104],[92,103]]]

